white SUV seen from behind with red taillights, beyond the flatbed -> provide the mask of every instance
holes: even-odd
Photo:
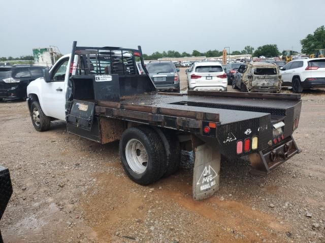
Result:
[[[227,74],[219,62],[194,62],[185,72],[188,90],[227,91]]]

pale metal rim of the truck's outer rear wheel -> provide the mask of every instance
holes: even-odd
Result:
[[[137,174],[145,172],[148,165],[148,155],[143,144],[137,139],[131,139],[125,146],[125,157],[128,166]]]

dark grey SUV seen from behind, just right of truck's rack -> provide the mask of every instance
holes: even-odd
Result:
[[[179,93],[179,68],[172,61],[151,61],[146,68],[157,91]]]

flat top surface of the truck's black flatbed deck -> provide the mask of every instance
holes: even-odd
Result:
[[[232,93],[228,94],[231,95],[218,96],[214,94],[202,96],[193,94],[149,93],[121,97],[120,102],[98,101],[98,105],[188,118],[196,118],[195,113],[204,112],[217,115],[218,120],[214,120],[224,125],[267,116],[269,114],[271,114],[272,120],[277,120],[279,117],[285,115],[286,109],[294,107],[300,102],[300,100],[296,99],[246,98],[234,97]],[[238,95],[238,93],[236,94]],[[157,112],[158,108],[159,112]],[[185,113],[187,115],[184,115]]]

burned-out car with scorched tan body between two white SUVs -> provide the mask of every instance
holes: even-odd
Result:
[[[243,63],[238,68],[233,89],[241,92],[268,92],[279,93],[281,91],[282,76],[279,67],[273,63]]]

